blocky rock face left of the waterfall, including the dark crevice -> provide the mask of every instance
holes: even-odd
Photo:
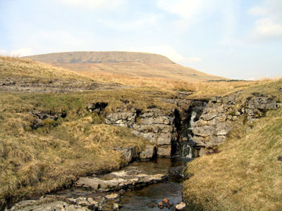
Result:
[[[161,101],[174,104],[178,109],[161,111],[159,108],[148,108],[147,110],[137,110],[135,108],[118,108],[114,113],[106,115],[106,124],[116,124],[121,127],[133,129],[133,134],[148,139],[157,146],[157,155],[171,156],[182,144],[189,141],[190,118],[192,111],[196,111],[197,119],[202,114],[202,109],[206,105],[204,100],[187,100],[184,97],[190,95],[188,92],[180,92],[180,98],[161,98]],[[126,102],[125,102],[126,103]],[[180,144],[179,144],[180,143]],[[178,146],[179,145],[179,146]],[[147,158],[151,158],[153,149],[148,149]],[[145,152],[140,153],[141,159]]]

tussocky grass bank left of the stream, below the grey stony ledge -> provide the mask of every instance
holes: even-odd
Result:
[[[108,95],[106,95],[108,94]],[[110,97],[111,94],[111,97]],[[150,144],[130,129],[103,124],[90,114],[87,102],[119,101],[114,92],[104,94],[0,94],[0,207],[19,198],[69,186],[80,176],[111,171],[125,165],[115,146]],[[119,104],[110,105],[113,109]],[[46,119],[32,129],[33,111],[66,112],[65,118]]]

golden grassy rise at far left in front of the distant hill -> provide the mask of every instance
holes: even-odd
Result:
[[[61,93],[120,88],[124,86],[97,82],[92,77],[53,65],[0,56],[0,91]]]

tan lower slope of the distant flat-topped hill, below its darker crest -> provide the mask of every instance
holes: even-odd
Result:
[[[193,68],[170,63],[52,63],[56,67],[78,72],[97,74],[114,74],[130,77],[147,77],[160,79],[200,82],[209,79],[224,79],[200,72]]]

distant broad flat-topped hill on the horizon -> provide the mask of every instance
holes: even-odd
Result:
[[[81,51],[48,53],[27,56],[32,60],[51,63],[82,73],[108,73],[131,77],[157,77],[199,82],[224,79],[208,75],[193,68],[173,63],[168,58],[153,53],[135,53],[123,51]]]

